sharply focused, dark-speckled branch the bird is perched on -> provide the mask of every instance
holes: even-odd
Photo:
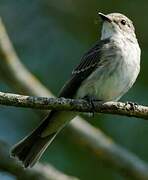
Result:
[[[40,110],[97,112],[148,119],[148,107],[137,104],[135,105],[131,102],[100,103],[93,101],[94,107],[92,109],[92,105],[82,99],[33,97],[0,92],[0,104]]]

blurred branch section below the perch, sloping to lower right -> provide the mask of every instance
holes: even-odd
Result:
[[[91,150],[98,160],[117,169],[130,179],[148,179],[148,164],[136,155],[116,144],[110,137],[87,122],[77,119],[72,121],[72,125],[73,135],[79,139],[76,142]]]

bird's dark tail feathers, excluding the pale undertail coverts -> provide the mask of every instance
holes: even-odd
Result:
[[[55,131],[49,132],[47,136],[42,136],[52,120],[52,114],[50,113],[37,129],[11,149],[11,156],[18,158],[25,168],[32,167],[39,160],[47,146],[60,131],[61,128],[57,128]]]

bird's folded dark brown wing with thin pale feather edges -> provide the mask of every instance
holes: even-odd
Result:
[[[80,64],[72,71],[71,79],[60,91],[59,97],[72,98],[75,95],[82,81],[98,67],[102,51],[107,48],[108,43],[110,43],[109,39],[101,40],[84,54]]]

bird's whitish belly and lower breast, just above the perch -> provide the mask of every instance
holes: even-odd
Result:
[[[139,70],[139,62],[135,61],[134,54],[129,53],[122,59],[117,56],[112,63],[106,63],[98,67],[85,81],[82,82],[77,91],[77,98],[93,96],[98,100],[118,100],[134,84]],[[140,56],[138,57],[140,58]],[[115,67],[115,68],[114,68]]]

